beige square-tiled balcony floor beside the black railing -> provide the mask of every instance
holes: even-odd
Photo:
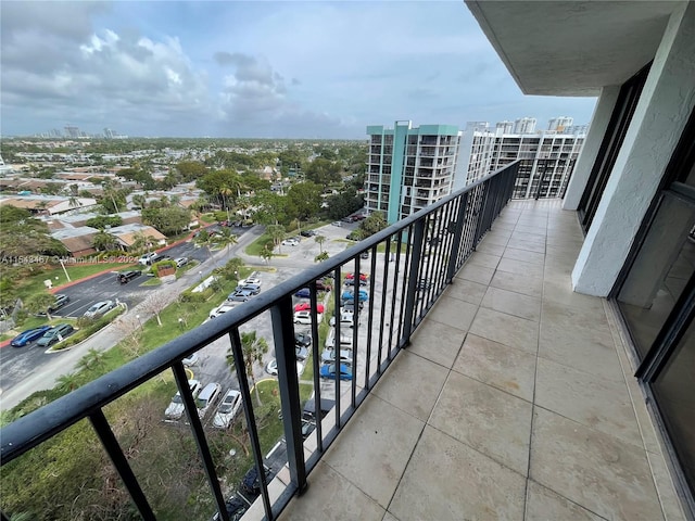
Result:
[[[581,243],[510,203],[281,519],[684,519]]]

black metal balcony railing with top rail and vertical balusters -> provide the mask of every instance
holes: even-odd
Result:
[[[507,165],[220,317],[10,423],[0,431],[2,465],[59,435],[78,421],[88,419],[141,517],[146,520],[156,519],[143,490],[147,486],[137,479],[104,409],[126,393],[170,369],[195,440],[200,465],[207,478],[212,503],[218,510],[218,519],[227,521],[229,516],[218,467],[215,465],[203,421],[199,417],[182,360],[219,339],[229,340],[253,462],[256,469],[264,469],[267,461],[264,461],[261,449],[261,427],[254,415],[255,405],[245,370],[248,360],[244,360],[240,328],[265,317],[269,318],[271,325],[277,358],[282,446],[283,453],[286,452],[282,462],[287,461],[285,469],[289,474],[289,479],[285,480],[283,491],[275,494],[275,497],[269,494],[268,484],[260,480],[260,499],[265,517],[268,520],[276,519],[292,496],[306,488],[307,474],[344,429],[396,354],[407,347],[414,330],[490,230],[493,220],[511,198],[518,163]],[[365,305],[361,309],[359,305],[354,304],[355,326],[352,338],[348,340],[348,359],[344,361],[351,377],[345,374],[345,381],[336,378],[333,382],[326,384],[326,380],[320,378],[324,366],[316,312],[319,303],[317,281],[324,277],[332,277],[333,291],[327,293],[329,296],[325,303],[330,309],[332,301],[338,310],[345,296],[342,295],[341,287],[348,271],[354,274],[351,279],[354,296],[363,300],[358,291],[365,292]],[[363,271],[369,276],[361,283],[359,274]],[[312,344],[308,360],[314,370],[314,403],[321,404],[325,398],[334,401],[332,414],[324,421],[318,417],[311,434],[312,440],[307,440],[306,444],[302,430],[292,302],[294,293],[302,288],[308,288],[311,295],[312,318],[308,333]],[[341,328],[345,330],[348,326],[337,320],[332,334],[333,339],[341,339],[340,343],[345,336],[341,334]],[[336,350],[339,351],[340,347]],[[309,445],[313,448],[309,449]],[[64,499],[71,501],[71,498]],[[2,519],[7,519],[4,513]]]

